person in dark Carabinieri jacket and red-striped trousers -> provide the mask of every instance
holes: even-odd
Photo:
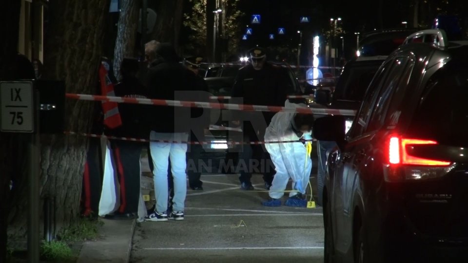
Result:
[[[120,66],[121,81],[114,88],[116,96],[147,98],[147,90],[137,79],[138,60],[124,58]],[[147,113],[141,105],[119,103],[122,125],[106,133],[117,137],[148,138],[149,129],[143,116]],[[135,218],[140,195],[140,155],[146,143],[112,140],[111,147],[116,162],[120,184],[120,207],[114,216]]]

